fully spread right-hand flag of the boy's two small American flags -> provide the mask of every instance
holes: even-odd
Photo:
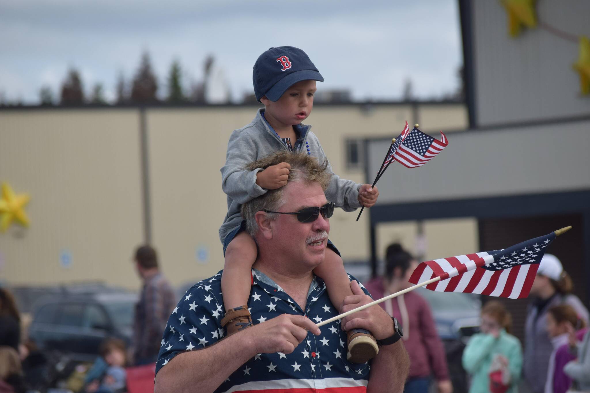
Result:
[[[401,146],[396,148],[393,158],[408,168],[421,167],[447,147],[447,137],[442,131],[441,136],[439,141],[414,127]]]

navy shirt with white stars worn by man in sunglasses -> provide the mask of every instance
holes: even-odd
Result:
[[[221,273],[196,283],[176,305],[160,342],[156,373],[174,356],[212,345],[225,335],[220,323],[225,313]],[[280,286],[257,270],[253,270],[248,309],[255,325],[283,313],[305,315],[316,323],[338,314],[319,277],[314,277],[303,311]],[[319,336],[307,333],[291,354],[255,355],[215,392],[366,392],[371,367],[346,361],[346,333],[340,321],[320,330]]]

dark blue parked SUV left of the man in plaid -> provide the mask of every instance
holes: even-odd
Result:
[[[107,337],[130,343],[137,294],[71,292],[43,298],[35,307],[29,336],[42,351],[91,362]]]

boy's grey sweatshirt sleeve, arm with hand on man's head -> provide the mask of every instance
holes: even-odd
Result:
[[[256,174],[262,169],[244,170],[245,166],[256,160],[257,150],[247,133],[239,130],[231,133],[225,165],[221,168],[221,187],[237,203],[244,204],[267,191],[256,184]]]

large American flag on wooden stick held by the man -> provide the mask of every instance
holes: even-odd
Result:
[[[503,250],[422,262],[409,282],[417,284],[438,276],[440,281],[428,284],[427,289],[526,298],[541,258],[554,239],[555,232],[551,232]]]

